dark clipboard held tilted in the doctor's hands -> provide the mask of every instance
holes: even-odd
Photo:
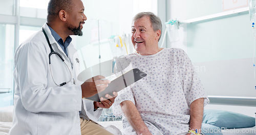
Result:
[[[119,76],[118,78],[112,80],[109,86],[106,87],[104,91],[86,99],[97,102],[100,102],[101,97],[108,99],[105,97],[106,94],[113,96],[113,92],[121,91],[123,88],[130,86],[131,84],[137,82],[146,75],[146,73],[140,71],[139,69],[132,69],[125,74]]]

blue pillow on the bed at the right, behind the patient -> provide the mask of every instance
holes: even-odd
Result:
[[[245,128],[255,126],[255,118],[225,110],[204,110],[203,122],[223,128]]]

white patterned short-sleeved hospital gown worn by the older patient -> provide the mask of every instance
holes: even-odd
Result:
[[[163,49],[154,55],[134,53],[123,58],[116,61],[116,72],[138,68],[147,74],[115,99],[113,111],[123,116],[123,133],[136,134],[119,105],[130,100],[152,134],[186,134],[191,102],[204,98],[204,105],[209,103],[187,54],[181,49]]]

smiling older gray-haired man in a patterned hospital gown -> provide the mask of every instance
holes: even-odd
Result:
[[[201,128],[209,99],[187,54],[158,47],[161,33],[161,20],[153,13],[134,17],[132,42],[137,53],[124,58],[147,76],[115,99],[114,115],[123,116],[127,134],[190,134]],[[117,63],[126,65],[125,61]]]

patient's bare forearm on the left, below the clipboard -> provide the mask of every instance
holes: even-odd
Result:
[[[127,120],[132,125],[133,129],[136,131],[137,134],[152,135],[150,133],[150,130],[148,130],[147,126],[141,119],[139,111],[132,101],[123,101],[122,103],[120,103],[120,106]]]

